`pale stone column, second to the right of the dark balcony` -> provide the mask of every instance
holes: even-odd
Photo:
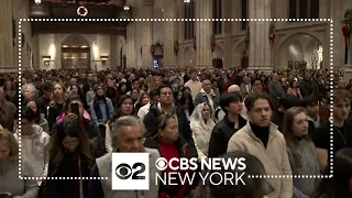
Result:
[[[164,19],[176,18],[176,4],[175,0],[164,0]],[[176,66],[176,54],[174,53],[174,43],[177,22],[165,21],[164,22],[164,67]]]

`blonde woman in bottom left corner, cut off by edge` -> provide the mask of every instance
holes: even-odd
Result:
[[[0,130],[0,195],[13,198],[36,198],[38,186],[29,164],[22,160],[19,166],[19,145],[13,134],[8,130]],[[19,177],[21,167],[22,177]]]

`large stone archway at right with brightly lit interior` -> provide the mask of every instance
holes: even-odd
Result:
[[[275,62],[280,68],[321,69],[323,46],[317,37],[298,33],[283,42]]]

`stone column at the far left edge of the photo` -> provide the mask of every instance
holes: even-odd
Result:
[[[12,35],[12,0],[2,0],[0,6],[0,70],[16,67],[14,65],[14,46]],[[19,24],[15,24],[16,37],[19,37]],[[0,72],[0,73],[1,73]]]

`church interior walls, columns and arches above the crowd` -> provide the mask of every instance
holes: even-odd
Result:
[[[0,70],[349,69],[349,9],[351,0],[1,0]]]

